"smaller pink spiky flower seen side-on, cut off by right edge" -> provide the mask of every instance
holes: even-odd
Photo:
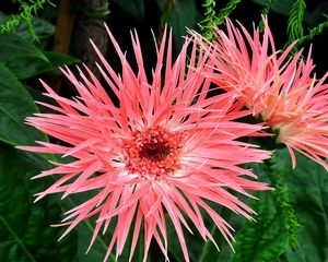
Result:
[[[218,29],[211,46],[211,67],[216,71],[208,76],[237,92],[239,103],[267,122],[277,133],[277,143],[289,148],[294,167],[293,150],[327,169],[321,157],[328,157],[328,84],[324,83],[328,72],[319,80],[312,76],[311,51],[306,61],[301,59],[302,50],[288,59],[295,43],[277,51],[266,20],[262,36],[258,28],[251,36],[243,25],[239,31],[226,22],[227,34]]]

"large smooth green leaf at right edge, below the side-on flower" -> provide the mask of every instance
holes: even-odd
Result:
[[[295,169],[292,169],[286,151],[280,152],[280,159],[284,163],[282,176],[302,225],[298,248],[289,250],[288,261],[325,261],[328,259],[328,174],[320,165],[300,154]]]

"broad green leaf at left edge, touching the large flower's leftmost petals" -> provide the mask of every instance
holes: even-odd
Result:
[[[15,75],[0,63],[0,140],[12,145],[32,145],[46,141],[44,133],[24,123],[37,112],[33,98]]]

